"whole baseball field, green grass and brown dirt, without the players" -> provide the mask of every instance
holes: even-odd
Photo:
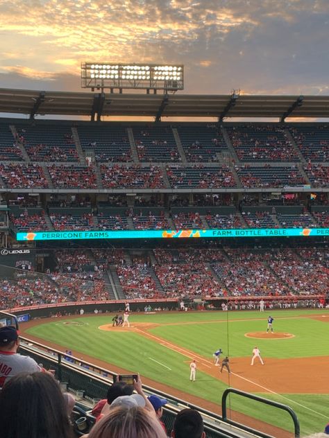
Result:
[[[274,333],[266,333],[269,315]],[[217,414],[223,389],[230,386],[289,405],[301,436],[321,432],[328,423],[328,309],[132,313],[129,320],[130,328],[121,328],[112,327],[110,313],[61,317],[23,324],[22,331],[112,371],[139,372],[144,383]],[[251,366],[255,346],[264,366],[257,359]],[[230,358],[231,374],[214,366],[212,353],[219,348]],[[198,367],[195,382],[189,381],[192,359]],[[279,428],[276,436],[291,436],[285,412],[236,395],[229,408],[237,421],[256,428],[262,421]]]

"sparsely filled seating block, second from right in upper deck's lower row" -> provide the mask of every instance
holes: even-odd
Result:
[[[247,188],[301,186],[306,184],[303,175],[295,166],[242,166],[240,168],[236,167],[236,170],[242,186]]]

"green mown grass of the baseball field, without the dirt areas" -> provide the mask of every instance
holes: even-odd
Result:
[[[270,314],[274,318],[273,329],[293,333],[295,337],[284,340],[260,339],[257,340],[258,347],[262,352],[266,351],[267,358],[326,356],[329,351],[329,324],[307,316],[328,315],[328,313],[328,310],[271,311]],[[224,353],[228,353],[230,358],[250,357],[255,340],[246,338],[244,333],[265,331],[268,316],[268,312],[247,311],[173,312],[155,315],[133,313],[130,315],[130,324],[133,325],[134,322],[161,324],[151,329],[149,333],[155,338],[168,340],[212,360],[212,353],[218,347],[221,347]],[[195,383],[189,382],[189,364],[186,356],[165,347],[155,338],[144,338],[136,332],[107,332],[98,329],[103,324],[110,324],[111,319],[111,315],[77,317],[74,320],[85,323],[79,326],[65,325],[62,324],[63,319],[60,321],[55,319],[53,322],[28,329],[28,333],[56,342],[62,345],[63,349],[80,351],[131,372],[138,371],[142,376],[220,405],[221,394],[223,389],[226,389],[225,383],[201,371],[198,371]],[[310,378],[312,378],[312,359],[310,360]],[[326,382],[323,384],[328,385]],[[301,383],[302,390],[303,383]],[[293,408],[301,422],[302,436],[312,432],[321,432],[328,423],[329,394],[281,395],[260,392],[255,392],[255,394],[285,403]],[[245,399],[237,396],[230,398],[230,408],[292,431],[292,421],[289,420],[287,414],[273,408],[263,407],[252,401],[246,402]]]

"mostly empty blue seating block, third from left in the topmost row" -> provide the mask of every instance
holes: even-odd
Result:
[[[79,125],[78,135],[83,150],[93,150],[96,161],[133,161],[126,127],[121,125]]]

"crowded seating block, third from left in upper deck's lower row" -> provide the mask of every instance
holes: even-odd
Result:
[[[106,166],[101,164],[103,187],[106,189],[163,189],[162,170],[158,166]]]

